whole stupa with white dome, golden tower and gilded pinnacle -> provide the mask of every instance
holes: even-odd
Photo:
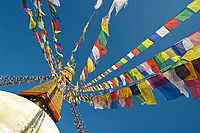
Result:
[[[74,68],[65,67],[69,82],[75,75]],[[19,95],[0,91],[0,133],[60,133],[55,122],[61,118],[62,102],[63,93],[55,80]]]

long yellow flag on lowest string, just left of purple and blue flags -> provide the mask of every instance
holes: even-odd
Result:
[[[151,91],[151,88],[146,80],[137,83],[137,86],[148,105],[157,104],[154,95]]]

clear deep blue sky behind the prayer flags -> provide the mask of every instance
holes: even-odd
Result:
[[[46,28],[51,32],[47,1],[43,0]],[[61,7],[56,8],[62,23],[61,39],[63,44],[63,62],[65,63],[78,41],[96,0],[60,0]],[[192,0],[129,0],[129,5],[122,9],[117,17],[112,15],[107,37],[108,53],[101,59],[96,71],[89,75],[89,80],[98,76],[116,61],[134,49],[154,31],[180,12]],[[104,0],[86,33],[86,41],[81,43],[75,56],[77,60],[76,77],[78,79],[87,57],[100,30],[101,18],[106,15],[112,0]],[[34,34],[28,29],[29,19],[22,8],[21,0],[1,0],[0,32],[0,75],[50,75],[42,51]],[[193,15],[183,24],[173,29],[164,39],[158,41],[129,63],[113,72],[108,79],[121,74],[134,66],[153,57],[156,53],[200,29],[200,13]],[[51,35],[51,33],[49,33]],[[52,38],[50,39],[50,42]],[[50,44],[53,49],[53,43]],[[0,87],[1,90],[19,93],[39,83]],[[141,106],[133,101],[133,107],[117,110],[94,110],[87,103],[79,105],[90,133],[194,133],[199,132],[199,99],[180,97],[167,101],[157,90],[153,91],[158,105]],[[69,105],[63,105],[61,120],[57,123],[61,133],[75,133]]]

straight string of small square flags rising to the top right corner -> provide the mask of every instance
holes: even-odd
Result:
[[[165,37],[172,29],[183,23],[186,19],[190,18],[194,13],[200,10],[200,2],[198,0],[193,1],[189,5],[186,6],[181,12],[179,12],[174,18],[165,23],[160,29],[158,29],[154,34],[152,34],[149,38],[143,41],[140,45],[138,45],[135,49],[130,51],[125,57],[120,59],[117,63],[112,65],[105,72],[94,78],[92,81],[88,82],[85,87],[88,87],[99,80],[103,79],[108,74],[117,70],[124,64],[126,64],[129,60],[139,55],[142,51],[149,48],[155,42],[159,41],[163,37]]]

